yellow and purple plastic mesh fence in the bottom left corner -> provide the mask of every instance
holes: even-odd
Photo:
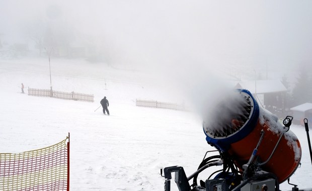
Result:
[[[0,190],[69,190],[67,139],[33,151],[0,153]]]

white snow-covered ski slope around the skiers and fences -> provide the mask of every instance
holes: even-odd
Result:
[[[71,190],[163,190],[161,168],[180,165],[190,175],[204,153],[214,150],[195,113],[135,106],[137,98],[187,103],[170,81],[166,85],[153,72],[51,59],[51,74],[54,90],[91,93],[95,102],[28,96],[28,87],[50,88],[48,60],[0,61],[0,152],[43,148],[69,132]],[[20,93],[22,82],[25,94]],[[102,108],[94,112],[104,96],[111,116],[104,116]],[[301,126],[291,130],[302,146],[301,167],[291,183],[312,187],[306,133]],[[177,190],[174,182],[172,190]]]

